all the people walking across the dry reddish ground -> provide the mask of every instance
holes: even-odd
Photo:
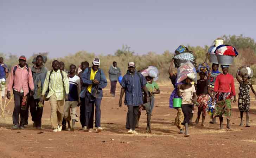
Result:
[[[230,129],[231,98],[236,102],[234,79],[228,73],[229,66],[221,65],[222,73],[218,71],[219,65],[212,64],[210,76],[205,72],[199,72],[200,79],[195,84],[190,78],[177,84],[177,73],[173,71],[173,60],[169,66],[169,78],[174,86],[176,96],[182,98],[182,106],[177,109],[175,125],[179,133],[185,133],[189,137],[188,126],[192,124],[194,106],[198,107],[195,123],[198,124],[202,114],[201,126],[204,126],[206,108],[211,104],[214,112],[211,115],[212,121],[216,123],[219,117],[220,129],[223,129],[223,118],[226,117],[227,128]],[[7,98],[11,98],[11,91],[14,96],[13,126],[12,129],[24,129],[28,125],[28,112],[30,109],[33,127],[42,128],[42,114],[44,102],[49,100],[51,105],[51,127],[53,132],[62,130],[74,131],[76,129],[77,114],[76,108],[80,106],[79,121],[82,130],[94,131],[94,113],[96,132],[101,132],[101,101],[103,88],[107,86],[107,79],[104,72],[99,68],[100,59],[95,58],[92,66],[84,61],[76,67],[70,65],[65,70],[64,62],[54,60],[52,70],[48,71],[44,66],[41,55],[36,57],[34,65],[30,68],[26,64],[26,57],[20,56],[19,64],[12,67],[11,72],[0,58],[0,80],[4,85],[9,74]],[[239,68],[240,69],[240,68]],[[109,79],[111,82],[110,93],[115,97],[116,84],[121,75],[117,62],[109,68]],[[238,107],[241,111],[241,123],[243,125],[243,112],[247,113],[247,127],[249,127],[250,96],[249,89],[256,96],[248,76],[239,75],[236,78],[240,84]],[[154,107],[154,95],[159,94],[159,86],[150,76],[144,77],[136,70],[134,62],[128,63],[128,70],[123,75],[119,106],[124,104],[128,107],[126,118],[126,129],[129,134],[136,134],[135,128],[139,126],[141,110],[147,112],[147,132],[151,133],[151,117]],[[4,86],[1,86],[1,95],[4,97]],[[95,111],[95,112],[94,112]],[[70,124],[72,121],[72,126]],[[66,126],[68,123],[68,126]],[[185,127],[185,132],[184,132]]]

